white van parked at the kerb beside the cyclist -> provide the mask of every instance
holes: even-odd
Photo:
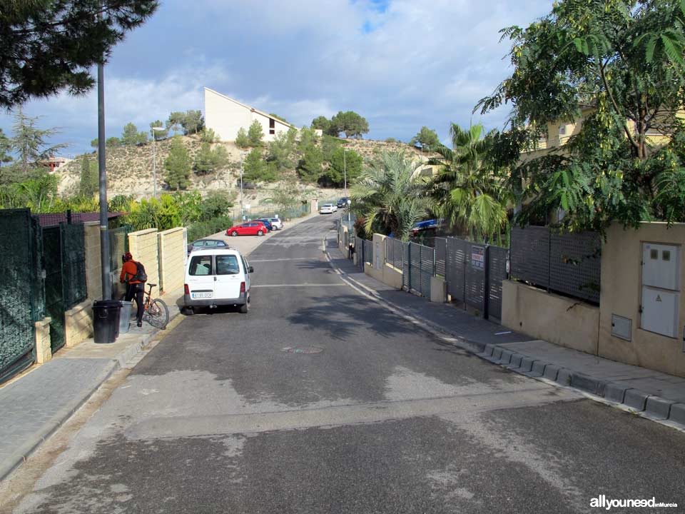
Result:
[[[250,306],[250,273],[253,267],[235,248],[207,248],[188,256],[183,302],[186,310],[196,307]]]

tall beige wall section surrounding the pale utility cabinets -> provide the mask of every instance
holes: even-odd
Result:
[[[600,296],[599,355],[671,375],[685,376],[683,325],[685,323],[685,224],[642,223],[638,230],[624,230],[616,224],[609,228],[602,247],[602,292]],[[676,338],[640,328],[642,283],[642,243],[681,246],[681,293],[679,331]],[[612,336],[612,314],[631,320],[631,341]]]

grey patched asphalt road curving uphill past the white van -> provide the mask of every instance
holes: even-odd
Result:
[[[685,510],[685,434],[360,295],[323,255],[334,219],[253,251],[250,313],[186,318],[15,512],[584,513],[600,494]]]

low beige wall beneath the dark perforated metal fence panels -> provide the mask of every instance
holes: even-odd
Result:
[[[533,339],[597,353],[599,308],[522,283],[502,281],[502,325]]]

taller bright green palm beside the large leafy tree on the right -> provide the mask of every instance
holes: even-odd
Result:
[[[499,236],[507,223],[509,194],[502,176],[484,164],[492,137],[482,133],[480,124],[467,131],[452,124],[452,149],[436,148],[442,168],[432,181],[435,213],[473,241]]]

